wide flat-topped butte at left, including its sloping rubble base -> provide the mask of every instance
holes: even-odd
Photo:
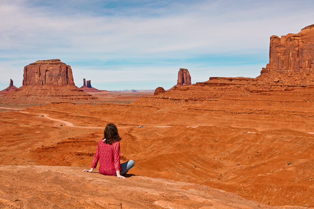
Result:
[[[23,86],[2,98],[20,102],[96,99],[74,85],[71,67],[59,59],[38,60],[26,65]]]

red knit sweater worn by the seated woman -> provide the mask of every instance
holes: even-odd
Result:
[[[103,175],[117,175],[116,170],[121,170],[120,143],[106,144],[100,139],[92,162],[92,168],[96,168],[98,160],[99,173]]]

